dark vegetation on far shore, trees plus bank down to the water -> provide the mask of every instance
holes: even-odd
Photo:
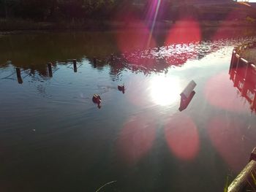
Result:
[[[148,17],[151,0],[0,0],[0,30],[48,28],[108,28],[118,27],[127,15],[141,20]],[[255,8],[236,4],[232,0],[162,0],[157,21],[176,22],[181,18],[225,20],[255,17]],[[125,23],[122,23],[123,25]]]

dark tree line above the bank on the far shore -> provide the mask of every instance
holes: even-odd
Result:
[[[199,20],[222,20],[228,9],[202,11],[187,0],[162,0],[157,20],[177,20],[189,16]],[[157,1],[151,0],[0,0],[0,18],[23,18],[34,21],[113,20],[126,12],[140,19],[150,18]],[[149,18],[147,18],[149,15]]]

